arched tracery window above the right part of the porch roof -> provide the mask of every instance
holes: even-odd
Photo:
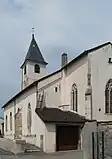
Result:
[[[77,86],[76,84],[72,85],[72,92],[71,92],[71,107],[72,110],[78,111],[78,91],[77,91]]]

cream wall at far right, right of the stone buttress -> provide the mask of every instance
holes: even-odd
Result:
[[[92,73],[93,119],[112,120],[111,114],[105,114],[105,86],[112,78],[112,46],[109,44],[89,54]],[[101,109],[101,111],[99,111]]]

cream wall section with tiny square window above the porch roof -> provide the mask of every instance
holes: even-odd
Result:
[[[57,92],[55,92],[57,87]],[[61,105],[61,72],[46,78],[38,83],[38,94],[45,94],[46,107],[58,107]]]

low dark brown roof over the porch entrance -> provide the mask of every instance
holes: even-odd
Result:
[[[71,111],[62,111],[58,108],[36,108],[37,115],[47,123],[84,123],[86,119]]]

